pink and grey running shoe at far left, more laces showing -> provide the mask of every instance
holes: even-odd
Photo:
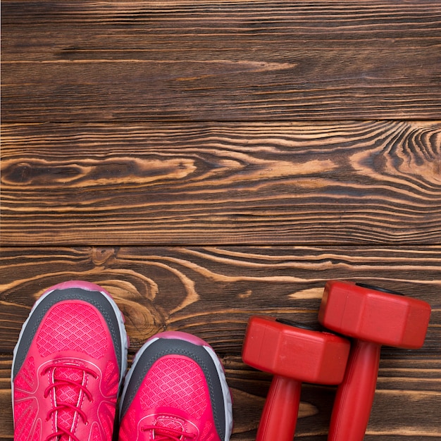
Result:
[[[47,290],[14,349],[14,440],[111,440],[127,349],[123,315],[101,287]]]

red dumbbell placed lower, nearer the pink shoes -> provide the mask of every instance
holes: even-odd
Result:
[[[302,382],[336,385],[344,376],[349,340],[272,317],[249,319],[242,359],[275,376],[256,441],[292,441]]]

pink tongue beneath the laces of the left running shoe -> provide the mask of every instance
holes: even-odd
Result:
[[[55,388],[56,405],[62,403],[72,404],[75,407],[81,407],[84,399],[84,392],[81,392],[80,387],[70,384],[63,384],[63,380],[69,380],[79,385],[85,383],[85,376],[87,374],[78,368],[57,367],[54,370],[54,382],[60,382]],[[70,409],[67,406],[58,410],[56,413],[57,426],[65,430],[72,430],[77,419],[81,418],[75,409]],[[68,436],[62,436],[61,441],[68,440]]]

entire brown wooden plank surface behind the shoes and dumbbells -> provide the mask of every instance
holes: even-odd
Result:
[[[163,329],[216,349],[232,441],[271,381],[240,357],[251,314],[314,323],[336,278],[426,300],[365,440],[440,439],[440,1],[4,0],[1,22],[1,439],[21,325],[73,278],[116,298],[130,359]],[[334,393],[304,385],[297,439],[326,440]]]

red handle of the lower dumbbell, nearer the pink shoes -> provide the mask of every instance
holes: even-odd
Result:
[[[302,383],[275,375],[266,397],[256,441],[292,441]]]

